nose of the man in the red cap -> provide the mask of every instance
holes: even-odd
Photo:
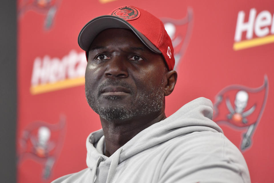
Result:
[[[126,61],[122,55],[115,55],[107,63],[107,69],[105,71],[106,77],[128,77],[128,69],[126,67]]]

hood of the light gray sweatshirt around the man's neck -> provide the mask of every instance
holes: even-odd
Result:
[[[168,118],[142,130],[110,157],[103,154],[104,137],[102,129],[91,133],[86,141],[86,163],[92,169],[93,180],[97,166],[101,161],[104,161],[104,164],[110,167],[106,181],[109,182],[118,164],[143,150],[166,142],[176,136],[192,132],[211,131],[223,133],[221,128],[212,121],[212,116],[212,102],[206,98],[197,98],[185,104]]]

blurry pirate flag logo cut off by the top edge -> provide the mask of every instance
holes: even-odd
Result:
[[[49,30],[53,25],[53,19],[61,1],[62,0],[23,0],[19,3],[18,15],[20,17],[29,10],[46,15],[44,28]]]

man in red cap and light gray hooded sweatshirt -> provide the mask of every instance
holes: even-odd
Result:
[[[133,6],[96,17],[81,30],[86,99],[102,130],[86,141],[88,168],[57,182],[250,182],[245,160],[198,98],[166,118],[177,80],[163,23]]]

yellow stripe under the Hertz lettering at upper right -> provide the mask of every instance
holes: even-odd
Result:
[[[269,44],[269,43],[273,43],[273,42],[274,42],[274,35],[269,35],[269,36],[265,36],[265,37],[258,37],[258,38],[254,38],[254,39],[235,42],[233,44],[233,49],[240,50],[240,49],[265,45],[265,44]]]

